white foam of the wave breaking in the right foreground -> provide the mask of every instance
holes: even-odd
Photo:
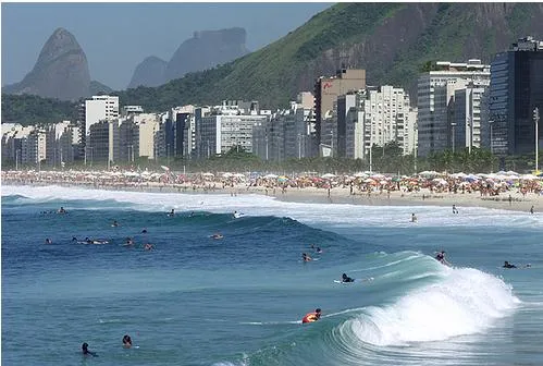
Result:
[[[477,269],[445,269],[443,279],[344,322],[340,333],[378,346],[480,333],[519,303],[501,279]],[[355,337],[353,337],[355,335]]]

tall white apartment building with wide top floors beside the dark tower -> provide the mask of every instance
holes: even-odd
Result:
[[[490,65],[480,60],[467,63],[436,62],[436,70],[425,72],[418,82],[418,134],[420,156],[452,146],[455,93],[470,82],[490,81]]]

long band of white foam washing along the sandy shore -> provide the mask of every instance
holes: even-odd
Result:
[[[280,216],[289,217],[307,224],[326,223],[329,227],[409,227],[410,212],[417,211],[418,227],[422,225],[513,225],[533,227],[543,224],[543,216],[533,215],[527,218],[523,212],[489,210],[485,208],[466,207],[464,215],[452,217],[448,207],[437,206],[379,206],[335,205],[335,204],[301,204],[276,200],[263,195],[229,194],[178,194],[178,193],[147,193],[85,190],[61,186],[2,186],[2,196],[23,195],[38,202],[50,199],[66,200],[64,207],[70,208],[70,200],[115,200],[128,208],[144,211],[176,211],[206,210],[215,213],[231,213],[242,211],[246,216]],[[111,203],[108,203],[108,209]],[[126,206],[125,206],[126,207]],[[90,208],[90,207],[89,207]],[[97,207],[92,207],[97,208]],[[446,209],[446,212],[445,212]],[[375,215],[379,213],[379,215]]]

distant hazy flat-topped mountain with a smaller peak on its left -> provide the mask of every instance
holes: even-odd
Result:
[[[128,88],[162,85],[189,72],[235,60],[248,53],[246,38],[245,29],[237,27],[195,32],[193,38],[181,44],[169,62],[152,56],[138,64]]]

